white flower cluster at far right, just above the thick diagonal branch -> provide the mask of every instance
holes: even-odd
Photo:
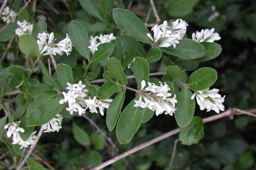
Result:
[[[224,97],[221,97],[220,94],[218,94],[218,89],[213,88],[212,90],[209,90],[209,88],[201,91],[196,91],[191,99],[195,99],[200,106],[200,110],[207,109],[207,111],[214,110],[217,113],[220,113],[220,111],[224,111],[224,105],[222,104],[224,102]]]

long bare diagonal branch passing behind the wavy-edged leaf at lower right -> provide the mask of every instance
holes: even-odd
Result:
[[[246,113],[243,113],[243,112],[256,113],[256,109],[247,110],[247,111],[243,111],[243,112],[238,112],[238,111],[234,112],[234,110],[236,111],[236,109],[229,109],[229,110],[227,110],[227,111],[225,111],[223,113],[220,113],[220,114],[217,114],[217,115],[214,115],[214,116],[210,116],[208,118],[204,118],[203,122],[207,123],[207,122],[212,122],[214,120],[221,119],[221,118],[224,118],[224,117],[227,117],[227,116],[246,114]],[[168,138],[168,137],[170,137],[172,135],[175,135],[175,134],[177,134],[179,132],[180,132],[180,128],[177,128],[175,130],[171,130],[171,131],[169,131],[167,133],[164,133],[163,135],[158,136],[158,137],[156,137],[154,139],[151,139],[150,141],[144,142],[144,143],[134,147],[133,149],[128,150],[125,153],[122,153],[122,154],[114,157],[113,159],[109,159],[108,161],[105,161],[104,163],[98,165],[95,168],[92,168],[91,170],[100,170],[100,169],[102,169],[104,167],[107,167],[108,165],[111,165],[114,162],[119,161],[120,159],[125,158],[126,156],[129,156],[129,155],[131,155],[131,154],[133,154],[133,153],[135,153],[135,152],[137,152],[139,150],[142,150],[145,147],[150,146],[151,144],[157,143],[157,142],[159,142],[159,141],[161,141],[163,139],[166,139],[166,138]]]

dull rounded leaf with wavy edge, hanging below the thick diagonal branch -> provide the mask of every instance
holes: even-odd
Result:
[[[182,144],[197,144],[203,137],[204,123],[199,116],[194,116],[187,127],[180,128],[179,140]]]

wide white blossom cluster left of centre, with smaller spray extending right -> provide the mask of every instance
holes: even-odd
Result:
[[[67,83],[69,90],[67,93],[63,92],[64,99],[60,100],[60,104],[68,102],[69,108],[66,108],[67,111],[72,115],[73,112],[84,114],[86,109],[89,108],[91,113],[98,113],[97,108],[99,108],[100,114],[104,115],[104,108],[108,109],[108,106],[112,102],[113,99],[97,99],[96,96],[91,99],[87,97],[88,90],[86,89],[86,85],[82,85],[82,82],[79,81],[78,84],[70,84]]]

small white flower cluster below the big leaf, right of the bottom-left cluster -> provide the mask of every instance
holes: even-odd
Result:
[[[47,124],[42,125],[42,128],[45,132],[55,132],[59,131],[61,129],[61,122],[62,122],[63,116],[60,114],[57,114],[52,120],[50,120]]]

